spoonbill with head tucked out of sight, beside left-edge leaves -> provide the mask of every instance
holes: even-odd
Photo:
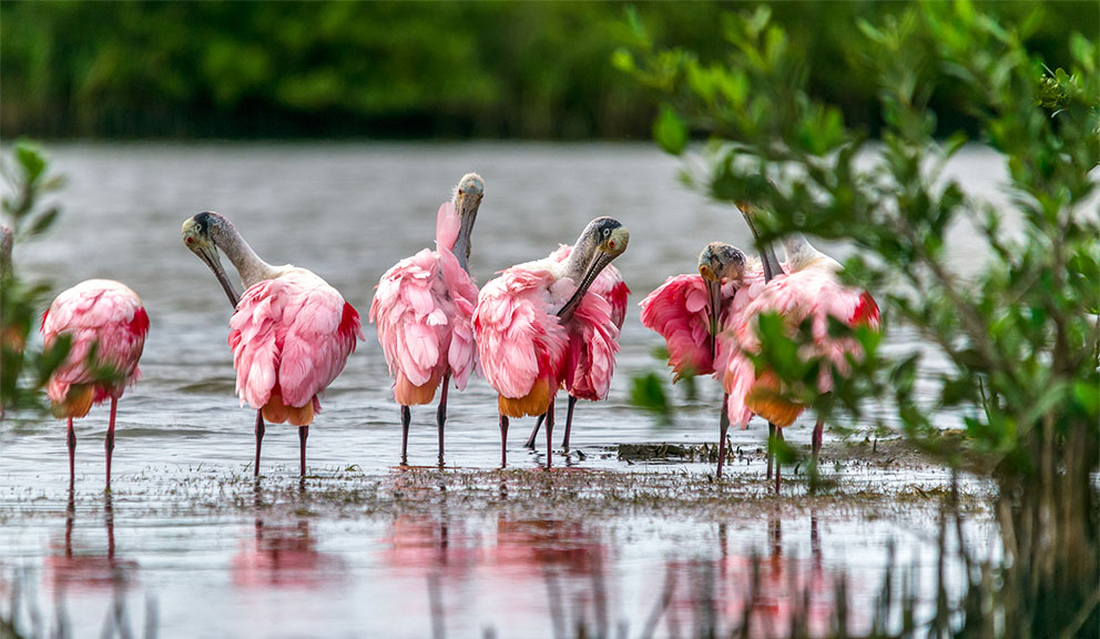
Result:
[[[149,315],[141,298],[126,285],[111,280],[88,280],[58,295],[42,316],[42,341],[51,347],[61,335],[71,339],[69,353],[50,374],[45,386],[51,410],[69,419],[69,487],[75,483],[75,417],[88,415],[93,404],[111,399],[106,427],[106,487],[111,488],[114,417],[119,397],[141,377],[141,359],[149,333]]]

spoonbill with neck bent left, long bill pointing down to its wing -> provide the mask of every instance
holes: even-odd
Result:
[[[298,427],[305,477],[309,424],[320,412],[320,393],[344,371],[356,339],[363,339],[359,314],[313,272],[261,260],[217,213],[189,217],[183,242],[210,266],[236,308],[230,320],[230,347],[241,405],[247,402],[256,409],[255,475],[259,475],[266,418]],[[241,275],[245,292],[240,300],[222,268],[218,248]]]

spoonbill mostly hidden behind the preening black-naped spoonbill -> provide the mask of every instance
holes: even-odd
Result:
[[[558,246],[557,251],[550,254],[550,260],[567,262],[572,248],[568,244],[562,244]],[[609,264],[595,277],[595,282],[592,282],[589,293],[599,295],[611,304],[611,323],[615,325],[615,331],[621,332],[622,323],[627,318],[627,298],[630,296],[630,288],[627,287],[627,283],[622,278],[622,273],[614,265]],[[618,338],[615,342],[618,343]],[[582,334],[578,333],[571,336],[569,348],[571,352],[577,353],[578,356],[572,358],[573,368],[566,376],[566,392],[569,393],[569,409],[566,413],[566,436],[561,439],[561,447],[566,450],[569,450],[569,433],[573,425],[573,408],[577,406],[577,399],[599,402],[607,397],[610,390],[610,387],[605,387],[605,385],[610,385],[611,376],[602,376],[593,373],[590,357],[585,357],[583,354],[585,346],[587,344]],[[539,416],[538,422],[534,423],[534,429],[531,430],[530,437],[523,444],[524,448],[534,449],[534,440],[539,435],[539,428],[542,426],[544,419],[546,415]]]

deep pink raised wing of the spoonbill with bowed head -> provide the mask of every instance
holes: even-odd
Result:
[[[676,275],[639,304],[642,325],[664,337],[675,378],[714,373],[711,356],[711,303],[700,275]]]

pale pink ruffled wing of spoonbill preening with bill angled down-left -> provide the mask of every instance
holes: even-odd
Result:
[[[487,283],[473,310],[473,337],[486,379],[505,397],[523,397],[539,377],[557,387],[568,338],[550,303],[546,268],[512,266]]]

